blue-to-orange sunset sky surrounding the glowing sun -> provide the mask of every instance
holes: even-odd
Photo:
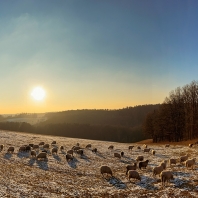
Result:
[[[9,0],[0,114],[162,103],[198,80],[197,0]],[[46,96],[35,100],[40,86]]]

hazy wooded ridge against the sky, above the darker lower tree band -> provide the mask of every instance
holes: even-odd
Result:
[[[42,124],[77,123],[90,125],[111,125],[135,127],[142,125],[146,115],[159,108],[155,105],[139,105],[118,110],[70,110],[47,113]]]

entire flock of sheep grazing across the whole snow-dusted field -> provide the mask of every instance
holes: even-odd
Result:
[[[198,144],[198,142],[196,142],[195,144]],[[54,154],[58,152],[58,150],[63,151],[65,148],[64,146],[60,146],[58,148],[57,142],[56,141],[52,141],[51,145],[53,146],[51,148],[51,154]],[[193,144],[189,144],[189,147],[192,147]],[[165,145],[166,148],[170,147],[170,145]],[[66,161],[72,161],[74,159],[74,153],[82,156],[84,154],[83,149],[91,149],[92,145],[88,144],[85,148],[82,148],[80,146],[79,143],[77,143],[75,146],[73,146],[70,150],[67,150],[67,152],[65,153],[65,158]],[[129,146],[128,149],[132,150],[134,148],[134,146]],[[2,151],[4,149],[4,145],[0,145],[0,151]],[[114,146],[111,145],[109,146],[108,149],[113,150]],[[137,149],[141,149],[140,146],[137,146]],[[10,146],[7,149],[7,153],[13,153],[15,151],[15,148],[13,146]],[[40,152],[39,152],[40,151]],[[155,150],[151,150],[150,148],[147,148],[147,145],[143,145],[143,151],[147,152],[147,153],[151,153],[152,155],[156,154]],[[23,145],[19,148],[18,152],[29,152],[30,153],[30,157],[35,157],[37,160],[38,159],[47,159],[48,154],[50,153],[50,144],[45,144],[44,142],[40,142],[39,144],[29,144],[29,145]],[[97,153],[97,148],[93,148],[92,152]],[[124,152],[114,152],[114,157],[121,159],[124,156]],[[162,186],[165,185],[165,182],[170,182],[171,179],[173,179],[173,172],[166,170],[167,164],[170,165],[170,167],[173,164],[176,163],[184,163],[186,168],[194,168],[195,163],[196,163],[196,159],[189,159],[189,155],[185,155],[185,156],[181,156],[179,159],[174,159],[174,158],[170,158],[169,160],[163,160],[157,167],[153,168],[153,176],[159,175],[161,177],[161,182],[162,182]],[[130,179],[137,179],[141,181],[141,177],[138,173],[138,168],[141,170],[142,168],[147,168],[147,165],[149,163],[149,160],[145,160],[144,161],[144,156],[139,155],[136,158],[136,162],[134,164],[130,164],[126,166],[126,175],[128,180],[130,181]],[[113,176],[113,172],[111,170],[111,168],[107,165],[103,165],[100,167],[100,173],[102,174],[110,174],[111,176]]]

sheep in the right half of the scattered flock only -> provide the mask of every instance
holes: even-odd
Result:
[[[196,142],[195,144],[198,144],[198,142]],[[192,147],[193,144],[189,144],[189,147]],[[129,150],[132,150],[134,146],[129,146]],[[143,145],[144,152],[150,152],[155,155],[156,151],[155,150],[151,150],[150,148],[147,148],[147,145]],[[170,147],[169,144],[165,145],[165,148]],[[111,145],[109,147],[109,149],[113,149],[114,147]],[[141,149],[139,146],[137,147],[137,149]],[[123,156],[124,153],[114,153],[114,157],[118,157],[121,158],[121,156]],[[184,163],[186,168],[194,168],[195,167],[195,163],[196,163],[196,158],[193,159],[188,159],[189,155],[185,155],[185,156],[181,156],[179,159],[174,159],[174,158],[170,158],[169,160],[163,160],[159,166],[154,167],[153,168],[153,176],[159,175],[161,177],[161,182],[162,182],[162,186],[165,185],[166,182],[170,182],[171,179],[174,179],[173,177],[173,172],[172,171],[168,171],[165,170],[167,167],[167,164],[169,163],[170,167],[172,166],[172,164],[176,164],[176,163]],[[131,178],[133,179],[138,179],[141,181],[141,177],[137,171],[137,168],[139,167],[139,169],[142,168],[146,168],[148,165],[149,160],[144,160],[143,156],[138,156],[136,158],[136,162],[133,165],[127,165],[126,166],[126,175],[128,180],[130,181]],[[109,166],[101,166],[100,168],[100,172],[101,174],[110,174],[111,176],[113,176],[112,170]]]

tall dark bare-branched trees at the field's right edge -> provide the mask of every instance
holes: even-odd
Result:
[[[154,142],[197,138],[198,82],[171,91],[164,103],[147,115],[143,129]]]

